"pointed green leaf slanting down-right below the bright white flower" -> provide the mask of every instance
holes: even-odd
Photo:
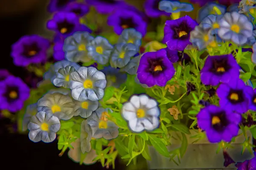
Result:
[[[166,145],[159,138],[157,138],[154,135],[150,135],[150,134],[148,135],[148,137],[149,137],[151,144],[157,150],[157,152],[159,152],[163,156],[170,157],[169,151],[166,148]]]

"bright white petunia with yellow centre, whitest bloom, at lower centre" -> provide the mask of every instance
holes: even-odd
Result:
[[[141,133],[144,130],[152,131],[160,125],[160,108],[157,101],[145,94],[131,96],[130,100],[123,105],[121,114],[134,133]]]

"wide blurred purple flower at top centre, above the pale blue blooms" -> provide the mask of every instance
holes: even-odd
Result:
[[[108,25],[113,26],[116,34],[120,35],[125,28],[134,28],[145,36],[147,23],[134,11],[119,8],[108,17]]]

